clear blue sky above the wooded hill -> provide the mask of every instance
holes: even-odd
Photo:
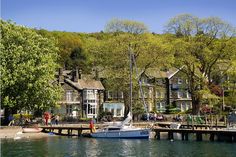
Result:
[[[163,33],[180,14],[219,17],[236,26],[236,0],[1,0],[1,18],[49,31],[100,32],[112,18],[143,22]]]

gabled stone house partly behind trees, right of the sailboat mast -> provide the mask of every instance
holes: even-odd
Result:
[[[175,106],[179,111],[192,108],[192,99],[188,89],[188,80],[181,69],[171,68],[168,71],[147,69],[141,75],[152,85],[149,89],[149,111],[165,112],[167,106]],[[142,81],[143,82],[143,81]],[[145,86],[145,83],[143,84]],[[152,107],[151,107],[152,106]]]

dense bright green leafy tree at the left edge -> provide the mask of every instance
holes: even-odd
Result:
[[[1,105],[6,112],[55,106],[60,88],[53,81],[58,48],[52,39],[1,20]]]

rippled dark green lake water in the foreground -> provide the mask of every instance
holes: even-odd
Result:
[[[2,157],[236,157],[236,144],[51,136],[1,140]]]

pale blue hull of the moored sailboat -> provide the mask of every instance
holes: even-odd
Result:
[[[95,133],[92,133],[91,136],[95,138],[130,138],[130,139],[148,139],[149,138],[149,129],[127,129],[119,131],[109,131],[101,130]]]

